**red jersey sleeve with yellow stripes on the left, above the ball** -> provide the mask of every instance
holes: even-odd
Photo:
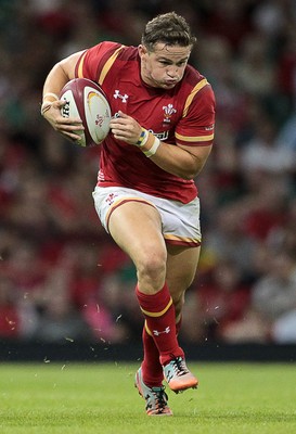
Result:
[[[111,66],[125,46],[104,41],[86,50],[79,58],[75,75],[77,78],[89,78],[102,85]]]

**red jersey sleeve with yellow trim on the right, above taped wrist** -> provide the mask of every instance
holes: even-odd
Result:
[[[215,106],[214,91],[205,79],[193,89],[185,102],[183,116],[175,131],[176,142],[193,146],[213,144]]]

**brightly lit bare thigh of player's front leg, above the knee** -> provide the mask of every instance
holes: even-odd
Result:
[[[166,261],[166,245],[158,210],[142,202],[126,202],[113,210],[108,229],[114,241],[140,264],[155,257]]]

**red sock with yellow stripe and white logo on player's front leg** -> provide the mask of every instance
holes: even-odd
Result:
[[[176,335],[175,307],[167,285],[153,295],[143,294],[137,285],[136,294],[146,319],[147,332],[158,348],[160,363],[166,365],[172,358],[184,357]]]

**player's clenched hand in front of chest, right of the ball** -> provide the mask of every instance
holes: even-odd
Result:
[[[141,125],[133,117],[121,111],[118,112],[117,117],[112,118],[110,127],[115,139],[134,145],[142,132]]]

